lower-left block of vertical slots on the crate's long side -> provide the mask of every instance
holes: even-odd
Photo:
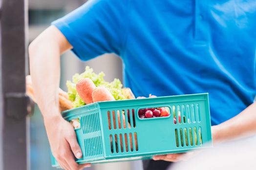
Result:
[[[138,151],[137,133],[109,135],[111,153]]]

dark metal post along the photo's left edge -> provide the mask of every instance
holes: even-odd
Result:
[[[0,170],[28,170],[26,0],[0,3]]]

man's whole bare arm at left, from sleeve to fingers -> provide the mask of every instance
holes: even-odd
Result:
[[[60,56],[72,46],[64,35],[50,26],[29,46],[29,66],[34,94],[43,115],[51,150],[65,170],[81,170],[85,166],[74,161],[82,157],[76,134],[59,110]]]

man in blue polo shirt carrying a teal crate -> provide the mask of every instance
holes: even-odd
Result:
[[[114,52],[136,96],[209,92],[213,141],[256,132],[256,2],[254,0],[89,0],[55,21],[29,47],[36,100],[53,155],[79,170],[82,156],[60,115],[60,55],[81,60]],[[155,156],[145,170],[166,169],[182,154]],[[156,168],[155,168],[156,167]]]

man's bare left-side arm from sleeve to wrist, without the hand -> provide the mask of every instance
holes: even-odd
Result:
[[[50,27],[29,47],[34,94],[44,119],[60,116],[60,55],[70,48],[62,43],[62,36],[55,27]]]

